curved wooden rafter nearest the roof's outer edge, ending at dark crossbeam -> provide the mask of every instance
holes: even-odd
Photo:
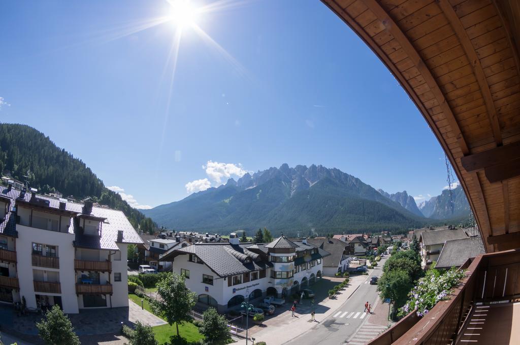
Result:
[[[426,64],[420,57],[417,50],[413,47],[408,37],[406,37],[406,35],[401,31],[399,25],[397,25],[397,23],[388,15],[388,13],[386,13],[384,8],[381,7],[381,5],[376,0],[364,0],[364,2],[365,5],[367,5],[367,7],[374,13],[374,15],[379,20],[381,20],[381,22],[386,28],[385,30],[391,33],[392,36],[394,36],[397,42],[399,42],[401,48],[407,53],[408,57],[415,64],[415,67],[417,67],[417,69],[421,73],[428,87],[430,87],[430,90],[437,99],[439,106],[444,113],[444,116],[448,120],[451,131],[457,138],[457,142],[462,150],[462,154],[469,154],[470,149],[467,146],[466,141],[464,140],[464,136],[462,135],[459,124],[457,123],[457,119],[453,115],[453,112],[451,111],[451,108],[448,102],[446,101],[443,92],[440,90],[437,81],[433,77],[428,66],[426,66]]]

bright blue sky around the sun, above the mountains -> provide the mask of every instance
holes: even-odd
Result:
[[[314,0],[225,4],[196,20],[221,48],[184,26],[170,84],[179,27],[138,31],[169,13],[165,1],[2,2],[0,121],[44,132],[138,207],[284,162],[440,194],[433,133],[332,11]]]

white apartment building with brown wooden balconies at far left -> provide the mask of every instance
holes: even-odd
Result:
[[[127,245],[141,240],[123,212],[0,186],[2,219],[1,302],[128,306]]]

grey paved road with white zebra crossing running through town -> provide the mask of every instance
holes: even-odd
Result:
[[[356,292],[347,299],[340,308],[307,332],[285,342],[284,345],[335,345],[347,341],[366,320],[365,303],[371,303],[372,308],[379,298],[377,285],[370,285],[372,275],[380,276],[386,258],[379,262],[373,273],[367,276],[366,283],[359,286]],[[379,302],[378,302],[379,303]]]

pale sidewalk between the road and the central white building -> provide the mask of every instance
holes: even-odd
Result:
[[[334,299],[326,298],[316,305],[316,320],[321,322],[330,314],[335,312],[336,309],[339,308],[369,277],[369,275],[357,275],[356,277],[350,278],[349,285],[340,294],[336,295]],[[317,322],[310,321],[310,311],[310,305],[298,305],[296,307],[297,318],[291,317],[290,310],[284,311],[277,315],[276,318],[268,320],[266,322],[266,327],[258,327],[257,329],[259,330],[253,331],[250,329],[249,337],[255,338],[255,342],[265,341],[268,345],[283,344],[284,342],[306,332],[313,326],[318,325]],[[241,339],[235,344],[245,345],[245,339]]]

